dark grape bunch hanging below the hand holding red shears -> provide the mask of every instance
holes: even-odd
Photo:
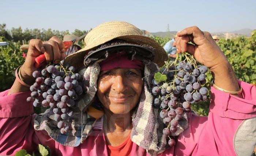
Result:
[[[27,102],[33,102],[34,107],[50,107],[60,132],[69,132],[75,115],[72,108],[83,93],[81,76],[75,73],[74,66],[59,64],[34,71],[33,77],[36,79],[30,87],[31,96]]]

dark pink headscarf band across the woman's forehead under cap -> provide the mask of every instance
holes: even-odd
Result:
[[[139,60],[129,60],[127,53],[114,53],[110,55],[106,60],[99,63],[101,71],[111,70],[114,68],[135,68],[144,70],[144,64]]]

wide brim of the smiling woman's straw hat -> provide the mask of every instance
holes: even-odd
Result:
[[[145,37],[142,35],[124,35],[110,38],[107,41],[104,41],[103,43],[111,41],[112,39],[123,39],[125,41],[128,41],[129,43],[136,43],[137,45],[148,45],[153,47],[153,53],[155,54],[153,62],[156,63],[159,67],[163,66],[165,64],[165,61],[168,60],[167,54],[163,47],[149,37]],[[99,45],[102,45],[103,43],[85,46],[83,49],[66,57],[64,60],[64,64],[74,66],[76,69],[82,68],[84,66],[84,57],[86,56],[86,54],[88,54],[88,52],[90,52],[91,50],[97,49],[97,47]]]

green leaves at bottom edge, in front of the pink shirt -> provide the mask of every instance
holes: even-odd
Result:
[[[44,147],[41,144],[38,144],[38,148],[33,152],[33,156],[50,156],[51,151],[48,146]],[[31,156],[27,153],[25,149],[21,149],[20,151],[15,153],[15,156]]]

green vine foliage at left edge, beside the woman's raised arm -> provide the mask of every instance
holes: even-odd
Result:
[[[0,42],[3,41],[7,40],[0,37]],[[0,91],[11,88],[15,80],[15,70],[25,60],[19,47],[20,42],[9,42],[7,46],[0,46]]]

